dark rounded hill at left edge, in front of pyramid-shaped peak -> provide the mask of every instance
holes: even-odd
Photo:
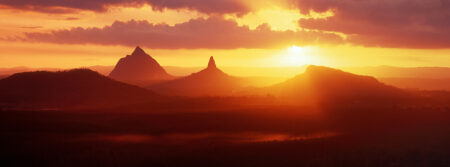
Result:
[[[20,107],[115,106],[156,97],[146,89],[114,81],[88,69],[24,72],[0,80],[2,103]]]

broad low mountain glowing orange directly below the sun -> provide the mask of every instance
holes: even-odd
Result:
[[[305,73],[269,88],[279,97],[305,103],[379,102],[406,95],[399,88],[385,85],[373,77],[310,65]]]

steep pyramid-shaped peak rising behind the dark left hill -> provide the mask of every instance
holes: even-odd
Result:
[[[109,77],[132,84],[174,78],[139,46],[134,49],[131,55],[119,60]]]

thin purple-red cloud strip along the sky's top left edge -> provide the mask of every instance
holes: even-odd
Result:
[[[190,9],[203,13],[243,14],[249,8],[241,0],[0,0],[0,5],[46,13],[67,13],[76,10],[103,12],[110,6],[134,6],[144,4],[156,10]]]

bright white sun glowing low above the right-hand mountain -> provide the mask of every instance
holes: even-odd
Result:
[[[314,58],[309,55],[309,48],[291,46],[283,54],[282,64],[284,66],[302,66],[314,64]]]

